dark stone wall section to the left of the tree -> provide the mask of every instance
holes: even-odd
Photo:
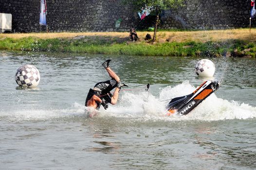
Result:
[[[49,31],[125,31],[136,20],[120,0],[46,0]],[[0,13],[13,15],[15,32],[39,32],[40,0],[0,0]],[[121,18],[120,28],[115,22]]]

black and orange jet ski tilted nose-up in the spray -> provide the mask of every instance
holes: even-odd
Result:
[[[219,89],[216,81],[206,81],[201,84],[193,93],[172,99],[166,106],[167,116],[174,113],[187,115],[191,110],[198,106],[203,100]]]

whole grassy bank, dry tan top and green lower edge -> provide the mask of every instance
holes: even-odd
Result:
[[[60,51],[163,56],[256,56],[256,29],[159,32],[155,43],[142,37],[130,42],[128,33],[0,34],[0,50]],[[153,33],[149,33],[153,34]]]

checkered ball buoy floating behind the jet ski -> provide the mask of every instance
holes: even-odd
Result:
[[[195,73],[200,77],[212,77],[215,73],[215,65],[211,60],[201,59],[195,66]]]

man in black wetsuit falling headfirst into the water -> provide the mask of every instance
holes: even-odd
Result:
[[[99,82],[96,85],[94,85],[93,89],[89,90],[85,106],[93,107],[94,109],[99,109],[100,105],[102,105],[105,109],[107,109],[107,103],[111,103],[113,105],[116,104],[121,87],[128,86],[120,82],[120,78],[116,75],[116,73],[113,70],[111,70],[110,61],[111,59],[106,60],[104,63],[102,63],[102,66],[107,70],[111,79],[105,82]],[[115,91],[112,95],[110,91],[114,88]],[[103,99],[105,101],[103,101]]]

